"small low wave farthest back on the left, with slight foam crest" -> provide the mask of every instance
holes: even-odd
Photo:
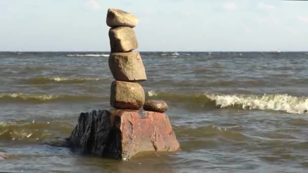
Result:
[[[61,83],[84,83],[88,81],[98,81],[100,78],[95,77],[32,77],[24,79],[29,84],[45,84],[51,82]]]

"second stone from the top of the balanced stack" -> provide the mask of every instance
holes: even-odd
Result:
[[[119,26],[109,30],[111,52],[129,52],[138,49],[138,40],[134,29]]]

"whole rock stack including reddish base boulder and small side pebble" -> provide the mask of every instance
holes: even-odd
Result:
[[[138,19],[118,9],[108,9],[106,23],[111,53],[109,68],[110,105],[115,109],[81,113],[67,146],[83,154],[129,160],[140,152],[177,151],[179,143],[164,101],[145,102],[142,86],[146,80],[135,31]],[[144,110],[140,110],[143,106]]]

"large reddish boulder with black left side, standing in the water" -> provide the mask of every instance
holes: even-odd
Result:
[[[68,146],[82,154],[122,160],[140,152],[172,152],[180,148],[167,115],[119,109],[81,113]]]

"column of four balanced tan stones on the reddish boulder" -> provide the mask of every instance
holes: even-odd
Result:
[[[144,90],[137,81],[146,80],[134,27],[138,18],[118,9],[108,9],[110,28],[109,68],[115,79],[111,83],[110,105],[115,109],[139,110],[144,104]]]

